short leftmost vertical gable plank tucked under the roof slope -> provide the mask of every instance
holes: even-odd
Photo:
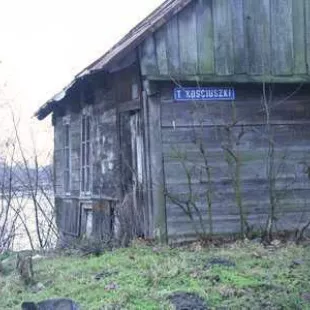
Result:
[[[140,67],[142,75],[157,75],[156,46],[154,36],[148,36],[140,47]]]

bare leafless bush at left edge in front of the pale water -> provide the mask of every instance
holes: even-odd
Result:
[[[51,168],[39,166],[35,149],[24,149],[13,114],[12,123],[14,132],[0,160],[0,253],[18,248],[21,236],[32,250],[52,246],[57,236]]]

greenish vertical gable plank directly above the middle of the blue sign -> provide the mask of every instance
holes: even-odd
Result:
[[[198,72],[214,73],[214,40],[212,21],[212,1],[198,0],[196,4]]]

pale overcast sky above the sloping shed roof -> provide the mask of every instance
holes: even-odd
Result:
[[[52,147],[50,119],[33,113],[163,0],[0,0],[0,105],[10,104],[39,152]],[[10,121],[2,108],[0,130]]]

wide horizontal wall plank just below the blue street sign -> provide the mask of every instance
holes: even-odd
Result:
[[[310,107],[307,98],[298,97],[281,102],[275,98],[270,104],[270,122],[273,124],[309,123]],[[207,126],[227,124],[265,124],[266,112],[258,98],[235,102],[165,102],[162,125],[165,127]]]

